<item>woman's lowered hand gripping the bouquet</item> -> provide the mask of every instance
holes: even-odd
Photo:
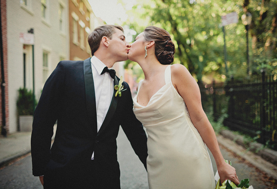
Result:
[[[236,169],[229,165],[228,163],[223,163],[218,167],[218,173],[220,176],[220,181],[221,183],[224,182],[225,180],[231,180],[233,181],[236,185],[240,183],[239,178],[236,173]]]

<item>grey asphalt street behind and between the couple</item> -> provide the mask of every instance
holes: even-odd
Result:
[[[121,170],[121,188],[122,189],[148,189],[147,172],[135,155],[125,134],[120,129],[117,138],[118,161]],[[231,160],[236,168],[239,179],[249,178],[250,184],[255,189],[277,188],[270,178],[259,171],[241,157],[235,155],[228,149],[221,146],[221,151],[225,159]],[[212,155],[212,163],[216,172],[216,164]],[[32,175],[31,156],[18,159],[9,166],[0,170],[0,188],[10,189],[30,189],[43,188],[37,177]],[[170,188],[169,188],[170,189]]]

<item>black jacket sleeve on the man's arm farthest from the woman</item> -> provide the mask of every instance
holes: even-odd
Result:
[[[31,136],[31,154],[33,175],[44,175],[44,169],[50,159],[53,126],[57,120],[59,99],[64,83],[63,61],[46,80],[40,100],[35,109]]]

